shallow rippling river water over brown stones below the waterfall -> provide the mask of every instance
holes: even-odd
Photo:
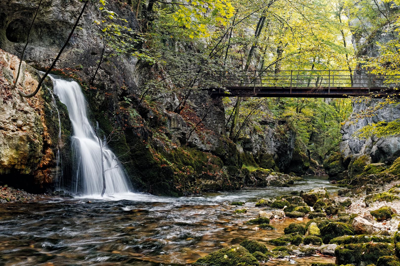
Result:
[[[271,221],[277,230],[255,231],[243,222],[258,217],[261,197],[336,185],[326,176],[307,176],[290,187],[248,188],[194,197],[156,197],[142,193],[125,199],[43,199],[0,205],[0,265],[186,265],[245,238],[264,244],[282,236],[295,219]],[[88,201],[91,203],[87,203]],[[231,201],[246,201],[248,212],[233,215]],[[268,248],[274,248],[269,246]],[[296,265],[334,262],[334,258],[294,258]],[[274,260],[264,265],[293,265]]]

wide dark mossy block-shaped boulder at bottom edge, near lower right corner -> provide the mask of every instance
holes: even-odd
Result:
[[[392,243],[345,244],[335,249],[336,264],[354,264],[357,266],[376,264],[382,256],[392,256]]]

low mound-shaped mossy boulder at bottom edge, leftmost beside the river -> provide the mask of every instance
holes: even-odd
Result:
[[[199,258],[195,265],[207,266],[260,266],[258,260],[243,246],[231,246]]]

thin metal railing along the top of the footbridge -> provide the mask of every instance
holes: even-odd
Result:
[[[362,70],[262,70],[262,71],[213,71],[206,73],[202,87],[397,87],[400,75],[375,75]]]

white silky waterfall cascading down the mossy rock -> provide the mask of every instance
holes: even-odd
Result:
[[[96,131],[86,113],[86,99],[76,81],[49,76],[53,81],[54,94],[67,106],[74,129],[71,148],[74,150],[78,167],[74,169],[76,173],[72,175],[76,179],[72,182],[76,182],[73,192],[100,195],[103,190],[102,156]],[[106,177],[105,195],[130,192],[123,166],[106,145],[103,147],[103,162]]]

